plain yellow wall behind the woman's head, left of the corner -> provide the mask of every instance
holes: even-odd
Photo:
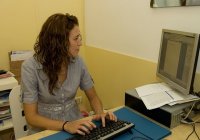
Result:
[[[1,0],[0,69],[9,70],[8,52],[32,50],[43,22],[53,13],[70,13],[84,27],[84,0]],[[84,55],[84,49],[81,55]]]

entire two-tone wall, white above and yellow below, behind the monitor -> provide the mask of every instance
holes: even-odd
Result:
[[[147,0],[85,0],[86,60],[105,108],[122,105],[126,90],[159,81],[161,30],[200,33],[198,13],[199,6],[152,9]]]

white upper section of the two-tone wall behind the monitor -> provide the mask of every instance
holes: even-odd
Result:
[[[161,30],[200,33],[199,14],[200,6],[150,8],[150,0],[85,0],[86,45],[157,62]]]

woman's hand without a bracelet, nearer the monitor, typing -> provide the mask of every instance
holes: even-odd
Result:
[[[102,121],[102,126],[105,127],[105,119],[109,119],[111,121],[117,121],[117,117],[113,114],[113,112],[106,112],[102,114],[96,114],[93,116],[93,120],[100,120]]]

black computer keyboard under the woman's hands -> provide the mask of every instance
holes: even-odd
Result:
[[[106,120],[106,126],[103,127],[102,125],[97,126],[90,134],[82,135],[73,135],[66,140],[106,140],[113,138],[119,134],[130,130],[135,125],[133,123],[118,120],[117,122]]]

